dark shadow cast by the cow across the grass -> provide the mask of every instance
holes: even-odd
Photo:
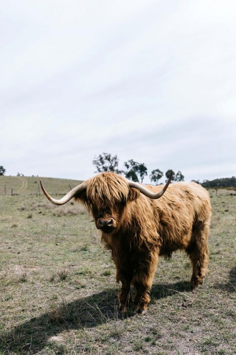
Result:
[[[176,292],[190,291],[188,282],[153,285],[152,299],[161,299]],[[135,313],[130,311],[129,316]],[[106,289],[71,303],[53,306],[50,311],[0,333],[0,353],[35,354],[48,340],[69,329],[92,328],[110,320],[122,319],[116,289]]]

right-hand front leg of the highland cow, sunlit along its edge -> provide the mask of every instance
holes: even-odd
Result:
[[[134,304],[136,306],[137,313],[145,315],[147,313],[147,307],[150,302],[150,290],[152,286],[152,280],[154,277],[156,265],[158,263],[158,255],[152,256],[147,265],[144,267],[142,264],[136,269],[132,284],[136,289],[136,297]]]

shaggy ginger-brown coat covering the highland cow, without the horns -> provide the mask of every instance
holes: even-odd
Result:
[[[160,186],[146,186],[159,191]],[[211,216],[208,192],[195,183],[170,185],[164,196],[151,200],[112,172],[87,181],[75,199],[92,213],[102,241],[111,250],[116,280],[122,282],[121,308],[127,311],[130,286],[136,289],[137,311],[146,313],[159,255],[184,250],[192,263],[191,286],[199,286],[207,270],[207,238]]]

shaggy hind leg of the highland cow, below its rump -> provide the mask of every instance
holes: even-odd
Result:
[[[192,264],[191,288],[201,285],[207,272],[209,222],[198,221],[192,229],[192,238],[186,249]]]

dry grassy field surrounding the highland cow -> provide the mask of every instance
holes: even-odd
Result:
[[[0,354],[236,353],[235,191],[210,191],[201,288],[190,291],[189,260],[175,253],[160,259],[148,314],[131,308],[123,318],[114,265],[94,222],[78,204],[50,204],[37,194],[38,181],[0,176]],[[78,183],[43,182],[52,196]]]

